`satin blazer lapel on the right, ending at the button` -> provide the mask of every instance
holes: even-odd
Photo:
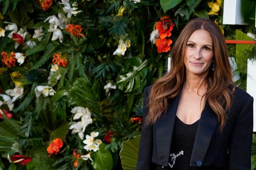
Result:
[[[190,159],[190,166],[202,165],[203,159],[205,157],[209,143],[212,139],[214,130],[216,129],[217,123],[218,119],[216,114],[206,102],[205,108],[199,120],[197,134],[195,136],[195,142]]]

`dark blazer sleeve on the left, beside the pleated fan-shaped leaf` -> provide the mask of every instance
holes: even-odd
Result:
[[[152,163],[153,150],[153,128],[151,125],[145,126],[148,114],[148,92],[144,89],[143,94],[143,123],[141,128],[140,147],[137,161],[137,170],[155,170],[155,164]]]

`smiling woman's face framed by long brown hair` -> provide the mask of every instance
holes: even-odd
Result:
[[[187,41],[184,55],[186,74],[208,73],[213,60],[213,41],[210,33],[203,29],[194,31]]]

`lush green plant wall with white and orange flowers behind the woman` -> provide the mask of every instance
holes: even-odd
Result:
[[[143,89],[166,73],[185,24],[210,18],[226,39],[255,33],[253,19],[223,25],[221,0],[0,0],[0,9],[0,169],[117,170],[127,157],[136,169],[139,140],[128,139],[140,135]]]

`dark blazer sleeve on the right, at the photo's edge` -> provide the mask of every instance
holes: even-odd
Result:
[[[238,115],[229,145],[229,169],[251,170],[253,97]]]

